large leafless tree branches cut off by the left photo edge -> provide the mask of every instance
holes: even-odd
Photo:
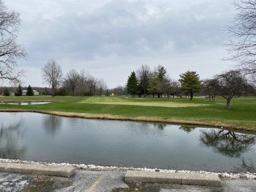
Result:
[[[8,10],[0,0],[0,79],[20,81],[24,70],[19,70],[17,60],[26,59],[24,46],[18,43],[20,13]]]

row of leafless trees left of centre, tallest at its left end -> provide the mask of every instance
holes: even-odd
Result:
[[[59,87],[58,95],[72,96],[102,96],[107,90],[103,79],[96,78],[85,70],[77,72],[72,69],[63,76],[61,66],[53,59],[42,68],[42,78],[43,83],[51,87],[52,96],[56,95]]]

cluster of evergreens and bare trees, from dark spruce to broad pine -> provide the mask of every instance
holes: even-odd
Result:
[[[166,69],[158,65],[153,71],[149,66],[142,65],[136,72],[131,72],[127,80],[127,92],[132,97],[135,95],[162,97],[163,94],[170,98],[170,95],[182,97],[190,95],[192,100],[194,93],[200,92],[200,80],[196,72],[185,72],[180,75],[179,81],[172,80]]]

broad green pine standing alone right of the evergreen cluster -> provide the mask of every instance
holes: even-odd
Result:
[[[187,71],[180,75],[179,82],[181,82],[182,90],[190,94],[190,100],[193,99],[193,94],[201,90],[201,81],[196,72]]]

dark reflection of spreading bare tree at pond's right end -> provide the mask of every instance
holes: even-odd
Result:
[[[225,156],[240,157],[256,142],[256,136],[227,130],[200,130],[199,140]]]

